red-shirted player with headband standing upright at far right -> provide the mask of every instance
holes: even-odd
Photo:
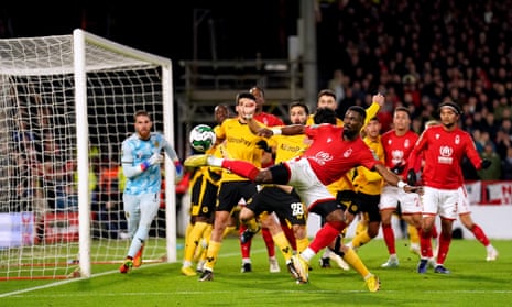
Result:
[[[422,257],[417,273],[426,273],[428,259],[433,256],[432,228],[436,216],[440,217],[440,235],[435,273],[449,274],[444,266],[451,242],[451,229],[457,219],[460,201],[462,171],[461,161],[466,155],[477,169],[489,167],[490,162],[481,160],[471,135],[458,128],[460,107],[451,101],[439,105],[440,124],[426,129],[408,156],[407,182],[416,182],[417,162],[424,158],[422,180],[424,185],[423,219],[420,232]]]

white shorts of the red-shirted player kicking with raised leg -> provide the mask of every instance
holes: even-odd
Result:
[[[309,209],[318,200],[336,199],[327,187],[320,183],[305,158],[291,160],[285,163],[290,168],[288,185],[293,186]]]

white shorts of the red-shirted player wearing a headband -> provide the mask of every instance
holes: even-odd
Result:
[[[439,215],[445,219],[457,219],[457,207],[460,201],[460,193],[458,189],[439,189],[433,187],[424,187],[423,189],[423,216]]]

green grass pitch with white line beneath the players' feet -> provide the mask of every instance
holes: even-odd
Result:
[[[213,282],[181,275],[181,260],[145,264],[129,274],[120,274],[119,265],[95,265],[87,279],[0,282],[0,306],[509,306],[512,241],[492,243],[500,256],[487,262],[478,241],[454,240],[445,262],[451,274],[439,275],[432,268],[416,273],[417,256],[408,252],[405,240],[396,242],[400,267],[381,268],[388,259],[385,244],[371,241],[358,251],[381,279],[381,289],[370,293],[353,270],[320,268],[319,255],[312,261],[308,284],[295,284],[279,251],[281,273],[269,273],[260,237],[252,245],[253,272],[240,273],[238,240],[228,237]]]

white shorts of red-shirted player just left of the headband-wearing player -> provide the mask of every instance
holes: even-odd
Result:
[[[394,210],[399,206],[404,215],[414,215],[422,212],[422,202],[417,193],[406,193],[403,189],[394,186],[384,186],[381,193],[381,201],[379,209]]]

